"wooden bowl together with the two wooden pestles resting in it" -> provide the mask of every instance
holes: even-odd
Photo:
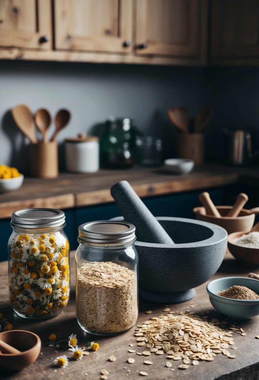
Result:
[[[207,192],[201,193],[199,200],[204,207],[195,207],[194,214],[198,220],[215,223],[227,230],[228,234],[237,231],[248,232],[254,224],[255,215],[259,214],[259,207],[243,209],[248,200],[245,193],[240,193],[234,206],[215,206]]]

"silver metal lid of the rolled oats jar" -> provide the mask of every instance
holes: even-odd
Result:
[[[133,241],[135,226],[127,222],[98,220],[78,227],[79,239],[94,244],[119,244]]]

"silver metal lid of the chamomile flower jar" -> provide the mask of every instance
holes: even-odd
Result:
[[[14,211],[11,221],[14,226],[23,228],[59,227],[65,223],[65,214],[55,209],[23,209]]]

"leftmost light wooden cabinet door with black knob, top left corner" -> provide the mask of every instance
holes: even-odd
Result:
[[[50,0],[0,0],[0,46],[49,50]]]

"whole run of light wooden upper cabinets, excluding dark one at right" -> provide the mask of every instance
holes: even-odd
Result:
[[[205,65],[207,3],[0,0],[0,59]],[[40,44],[51,26],[52,47]]]

